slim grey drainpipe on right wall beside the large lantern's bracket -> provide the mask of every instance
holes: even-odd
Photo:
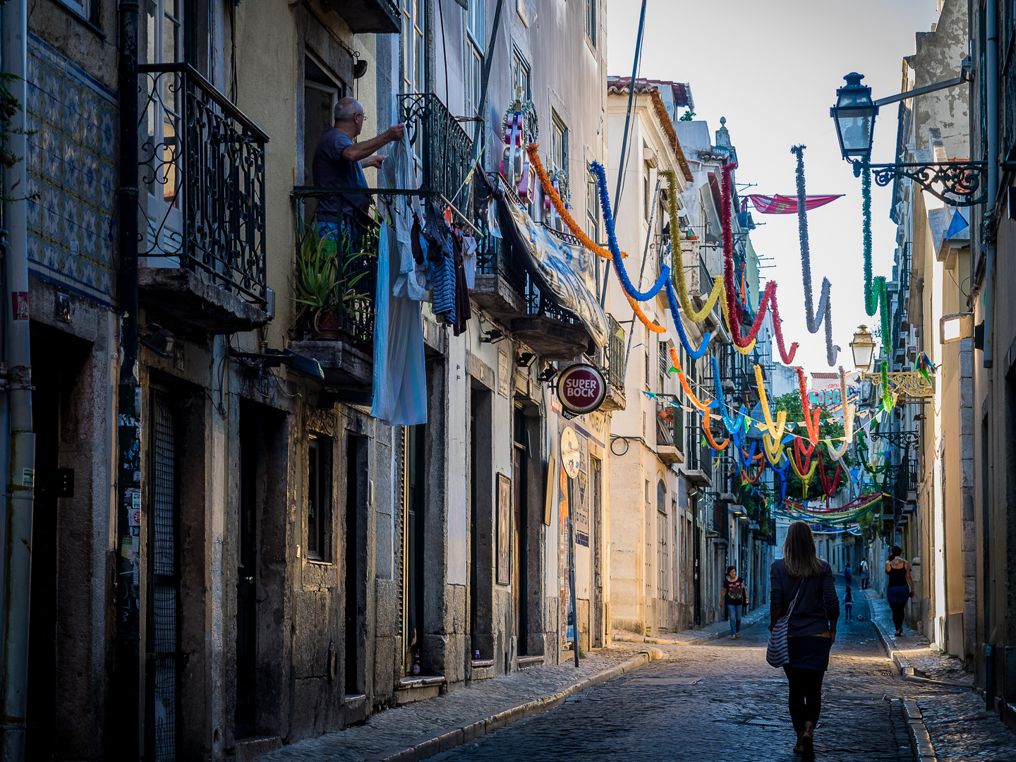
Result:
[[[995,341],[992,336],[992,310],[995,307],[995,201],[999,191],[999,16],[998,4],[987,3],[988,46],[985,49],[985,83],[988,94],[988,199],[981,236],[985,239],[985,367],[991,368]]]

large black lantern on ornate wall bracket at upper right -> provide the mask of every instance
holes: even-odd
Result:
[[[878,101],[872,101],[872,88],[861,83],[863,74],[852,71],[843,77],[846,84],[836,90],[836,105],[829,109],[829,116],[836,124],[839,152],[853,165],[854,177],[861,177],[862,170],[867,167],[871,170],[876,185],[882,187],[896,179],[908,178],[951,206],[973,206],[983,202],[986,194],[976,194],[985,184],[982,177],[988,168],[987,162],[869,164],[875,117],[878,116],[880,107],[962,84],[968,79],[968,67],[969,58],[960,66],[958,77],[880,98]],[[941,187],[941,190],[936,186]]]

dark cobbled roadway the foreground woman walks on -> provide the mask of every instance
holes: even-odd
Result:
[[[863,600],[841,620],[816,732],[819,759],[910,762],[900,697]],[[435,760],[800,760],[782,671],[765,662],[765,627],[740,640],[660,645],[668,658],[570,697],[564,706],[446,752]]]

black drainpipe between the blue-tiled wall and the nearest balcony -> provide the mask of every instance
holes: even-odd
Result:
[[[137,0],[120,0],[120,385],[117,395],[117,633],[107,747],[111,758],[138,759],[140,727],[141,387],[137,379]]]

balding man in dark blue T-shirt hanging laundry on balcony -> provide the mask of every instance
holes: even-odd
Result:
[[[356,99],[343,98],[335,104],[335,124],[331,129],[325,130],[314,150],[312,170],[316,186],[366,188],[364,168],[380,169],[384,162],[384,156],[374,155],[375,151],[390,142],[400,140],[405,134],[405,125],[396,124],[377,137],[354,142],[363,132],[366,120],[364,107]],[[342,211],[347,214],[352,213],[354,208],[366,212],[370,205],[371,198],[365,194],[356,193],[342,197]],[[318,204],[318,221],[337,223],[337,208],[335,196],[322,198]]]

